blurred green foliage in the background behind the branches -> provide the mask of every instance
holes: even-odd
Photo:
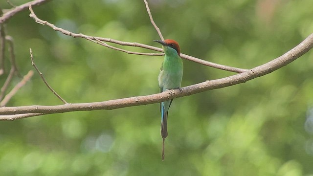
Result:
[[[2,9],[11,8],[2,0]],[[19,5],[27,0],[10,0]],[[252,68],[313,32],[312,0],[149,0],[182,53]],[[141,0],[53,0],[37,16],[72,32],[159,46]],[[163,57],[129,55],[40,25],[24,11],[5,24],[17,63],[36,65],[67,102],[158,92]],[[119,46],[120,47],[120,46]],[[123,46],[147,52],[142,48]],[[8,53],[6,53],[8,56]],[[182,86],[234,73],[184,60]],[[9,63],[6,63],[9,65]],[[158,104],[0,122],[3,176],[312,176],[313,52],[245,84],[175,99],[161,162]],[[6,75],[0,78],[1,85]],[[11,88],[20,79],[15,78]],[[38,74],[7,106],[58,105]]]

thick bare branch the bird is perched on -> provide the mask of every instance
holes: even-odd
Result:
[[[228,86],[233,86],[240,83],[245,83],[246,81],[252,80],[254,78],[271,73],[283,66],[290,64],[292,61],[296,60],[306,52],[308,52],[313,47],[313,34],[307,37],[303,42],[292,48],[290,51],[284,55],[264,64],[261,66],[254,67],[249,71],[236,74],[233,76],[205,81],[199,84],[187,86],[179,89],[174,89],[172,91],[164,91],[162,93],[137,96],[131,98],[123,98],[116,100],[109,100],[104,102],[93,102],[93,103],[77,103],[77,104],[65,104],[57,106],[23,106],[23,107],[2,107],[0,108],[0,115],[15,115],[15,114],[26,114],[26,113],[62,113],[69,111],[83,111],[83,110],[113,110],[131,106],[148,105],[153,103],[159,103],[167,101],[174,98],[179,98],[187,95],[192,95],[200,93],[207,90],[212,90],[216,88],[225,88]],[[1,120],[8,120],[3,119]]]

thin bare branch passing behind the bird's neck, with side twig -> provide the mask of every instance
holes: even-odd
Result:
[[[136,46],[136,47],[141,47],[141,48],[146,48],[146,49],[151,49],[151,50],[163,52],[163,50],[161,48],[150,46],[150,45],[147,45],[147,44],[139,44],[139,43],[134,43],[134,42],[123,42],[123,41],[118,41],[118,40],[109,39],[109,38],[93,37],[93,36],[88,36],[88,35],[85,35],[85,34],[73,33],[73,32],[70,32],[68,30],[65,30],[65,29],[62,29],[60,27],[57,27],[57,26],[55,26],[54,24],[52,24],[50,22],[43,21],[43,20],[39,19],[36,16],[36,14],[34,13],[34,11],[33,11],[31,6],[29,6],[29,11],[30,11],[29,16],[31,18],[33,18],[35,20],[35,22],[43,24],[43,25],[47,25],[47,26],[51,27],[53,30],[62,32],[62,34],[65,34],[65,35],[68,35],[68,36],[84,38],[84,39],[87,39],[87,40],[89,40],[91,42],[94,42],[96,44],[101,44],[101,43],[99,43],[97,41],[103,41],[103,42],[109,42],[109,43],[113,43],[113,44],[127,45],[127,46]],[[96,40],[96,41],[93,41],[93,39]],[[101,45],[103,45],[103,44],[101,44]],[[109,47],[109,46],[106,46],[106,47]],[[127,52],[129,54],[136,53],[136,52],[126,51],[126,50],[123,51],[123,52]],[[136,54],[138,54],[138,53],[136,53]],[[156,53],[151,53],[151,54],[150,53],[140,53],[140,54],[141,55],[153,55],[153,56],[164,55],[164,54],[156,54]],[[193,62],[202,64],[204,66],[211,66],[211,67],[214,67],[214,68],[218,68],[218,69],[222,69],[222,70],[226,70],[226,71],[231,71],[231,72],[236,72],[236,73],[243,73],[243,72],[248,70],[248,69],[236,68],[236,67],[232,67],[232,66],[224,66],[224,65],[221,65],[221,64],[216,64],[216,63],[204,61],[204,60],[201,60],[199,58],[188,56],[186,54],[180,54],[180,57],[183,58],[183,59],[189,60],[189,61],[193,61]]]

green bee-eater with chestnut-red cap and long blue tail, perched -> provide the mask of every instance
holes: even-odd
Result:
[[[164,60],[162,62],[160,73],[158,75],[158,87],[159,92],[163,92],[170,89],[179,88],[181,91],[181,80],[183,75],[183,64],[180,58],[179,44],[172,39],[154,40],[159,44],[162,44],[163,51],[165,53]],[[161,112],[161,136],[163,139],[162,145],[162,161],[164,161],[164,143],[167,137],[167,115],[168,110],[172,104],[172,100],[168,100],[160,103]]]

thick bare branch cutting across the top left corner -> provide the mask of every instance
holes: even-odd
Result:
[[[27,3],[24,3],[22,5],[19,5],[17,7],[14,7],[12,9],[10,9],[9,11],[7,11],[6,13],[4,13],[2,15],[2,17],[0,17],[0,23],[3,23],[5,21],[9,20],[16,13],[21,12],[21,11],[27,9],[29,7],[29,5],[40,5],[40,4],[42,4],[44,2],[47,2],[47,1],[50,1],[50,0],[33,0],[33,1],[30,1],[30,2],[27,2]]]

